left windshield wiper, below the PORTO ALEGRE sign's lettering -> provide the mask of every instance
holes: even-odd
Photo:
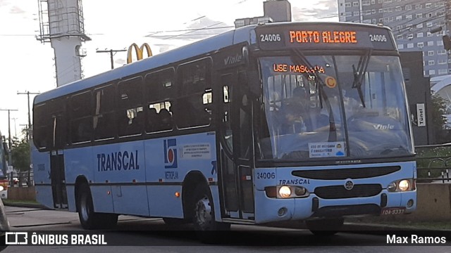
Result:
[[[292,49],[292,51],[295,53],[295,60],[293,60],[293,63],[296,63],[297,60],[300,61],[300,64],[307,66],[310,70],[313,70],[313,65],[307,60],[307,58],[304,56],[304,53],[300,51],[299,49]],[[308,73],[308,76],[315,77],[316,82],[318,82],[318,90],[319,90],[319,102],[321,105],[321,109],[323,108],[323,100],[324,103],[326,103],[326,106],[329,110],[329,138],[328,141],[337,141],[337,127],[335,126],[335,119],[333,117],[333,110],[332,105],[330,105],[330,101],[328,99],[328,96],[326,92],[323,89],[323,86],[326,86],[323,79],[319,76],[317,72],[310,72]],[[324,98],[324,99],[323,99]]]

